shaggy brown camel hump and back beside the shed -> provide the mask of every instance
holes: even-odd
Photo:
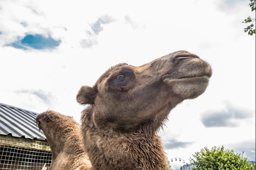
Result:
[[[83,150],[80,124],[69,116],[47,111],[35,119],[43,130],[52,151],[49,170],[89,170],[91,162]]]

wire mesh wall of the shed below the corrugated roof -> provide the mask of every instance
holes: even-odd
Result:
[[[46,141],[0,135],[0,170],[42,170],[51,163]]]

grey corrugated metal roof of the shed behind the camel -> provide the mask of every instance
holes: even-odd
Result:
[[[32,111],[0,103],[0,134],[45,140],[45,135],[34,123],[37,115]]]

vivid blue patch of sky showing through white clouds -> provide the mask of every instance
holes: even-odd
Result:
[[[28,50],[34,48],[37,50],[55,48],[60,46],[61,40],[54,40],[51,36],[44,37],[40,34],[26,35],[22,40],[15,41],[14,43],[8,44],[14,48]]]

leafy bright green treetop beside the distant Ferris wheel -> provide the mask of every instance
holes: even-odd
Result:
[[[244,153],[243,153],[244,154]],[[196,152],[190,158],[190,162],[195,165],[193,170],[241,170],[255,169],[243,154],[236,154],[233,150],[224,150],[224,147],[207,147]]]

